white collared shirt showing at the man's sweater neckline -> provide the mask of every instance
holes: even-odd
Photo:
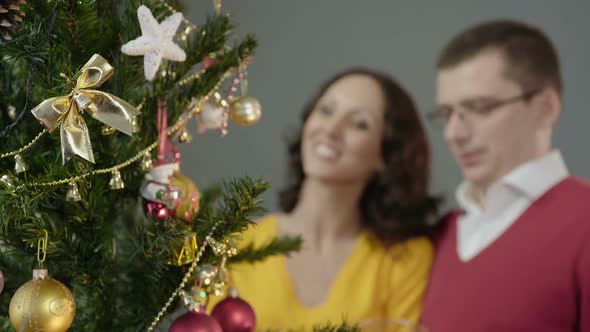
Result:
[[[457,252],[463,261],[477,256],[499,238],[531,204],[569,175],[559,151],[527,162],[492,185],[482,208],[468,182],[457,189]]]

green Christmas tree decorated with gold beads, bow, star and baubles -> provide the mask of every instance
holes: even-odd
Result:
[[[237,252],[268,183],[181,173],[189,124],[260,117],[256,40],[212,8],[192,23],[164,0],[0,2],[1,331],[153,330],[221,295],[225,266],[300,246]]]

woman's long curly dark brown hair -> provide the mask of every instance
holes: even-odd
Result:
[[[304,124],[318,99],[336,81],[349,75],[373,78],[385,98],[381,143],[385,169],[367,184],[360,201],[362,226],[385,245],[429,235],[438,219],[440,199],[428,193],[430,148],[410,95],[389,75],[366,68],[338,73],[325,82],[302,114]],[[303,126],[303,125],[302,125]],[[301,161],[301,130],[289,140],[289,183],[279,193],[279,205],[291,212],[299,200],[305,175]]]

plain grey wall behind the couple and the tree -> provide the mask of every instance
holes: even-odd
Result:
[[[210,0],[185,0],[185,15],[195,24],[213,12]],[[451,36],[481,20],[510,17],[542,27],[557,46],[565,82],[564,112],[556,131],[570,170],[590,178],[590,2],[550,0],[372,1],[226,0],[224,12],[259,41],[249,69],[249,94],[260,99],[261,121],[253,127],[230,124],[224,138],[196,134],[181,146],[183,171],[198,186],[222,178],[262,177],[272,187],[265,206],[277,209],[284,183],[284,133],[298,124],[303,104],[336,71],[366,65],[393,74],[414,96],[422,113],[434,107],[438,52]],[[442,133],[424,121],[433,150],[432,191],[454,203],[461,180]]]

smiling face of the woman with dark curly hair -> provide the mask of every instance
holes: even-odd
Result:
[[[303,126],[306,177],[367,183],[384,168],[381,155],[385,101],[373,78],[352,74],[334,82]]]

